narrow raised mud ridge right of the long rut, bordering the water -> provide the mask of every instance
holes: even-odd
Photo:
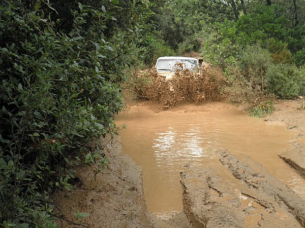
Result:
[[[302,226],[305,226],[305,201],[297,194],[278,179],[271,176],[260,164],[252,161],[251,158],[242,156],[241,160],[231,155],[228,151],[220,151],[220,153],[220,162],[236,179],[241,180],[249,188],[256,189],[259,195],[266,195],[276,201],[277,204],[268,202],[267,199],[256,198],[258,202],[264,202],[261,205],[267,211],[276,212],[276,205],[279,205],[283,211],[291,213]],[[289,223],[291,222],[289,221]]]

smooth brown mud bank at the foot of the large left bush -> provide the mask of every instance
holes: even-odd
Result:
[[[118,143],[104,153],[109,164],[96,175],[90,167],[75,167],[79,183],[71,192],[55,195],[59,227],[158,227],[147,210],[142,173]],[[89,213],[77,219],[76,211]],[[77,225],[81,224],[81,225]]]

